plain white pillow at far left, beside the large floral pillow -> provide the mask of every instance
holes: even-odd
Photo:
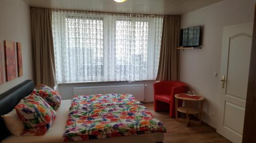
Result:
[[[13,109],[6,115],[1,116],[5,122],[7,129],[16,136],[20,136],[25,129],[22,121],[19,120],[16,110]]]

